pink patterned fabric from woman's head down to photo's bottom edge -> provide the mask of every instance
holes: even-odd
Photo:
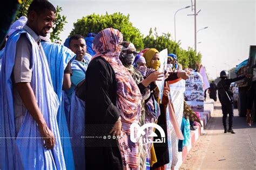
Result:
[[[93,41],[96,56],[102,56],[112,66],[117,80],[117,105],[122,110],[123,138],[118,139],[124,169],[137,168],[139,165],[138,144],[130,140],[130,126],[138,123],[141,112],[142,95],[129,71],[119,60],[123,35],[116,29],[105,29]]]

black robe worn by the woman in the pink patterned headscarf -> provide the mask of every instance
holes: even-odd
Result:
[[[98,56],[89,63],[85,80],[85,168],[122,169],[117,140],[108,139],[121,113],[114,70]]]

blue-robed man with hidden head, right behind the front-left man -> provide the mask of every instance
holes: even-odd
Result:
[[[60,102],[57,113],[57,123],[61,137],[60,141],[62,143],[66,168],[75,169],[69,129],[64,109],[63,90],[69,89],[71,86],[71,61],[75,59],[76,54],[63,45],[52,43],[50,40],[50,33],[48,33],[48,36],[41,38],[41,44],[43,46],[46,59],[48,60],[53,89],[57,94],[58,100]]]

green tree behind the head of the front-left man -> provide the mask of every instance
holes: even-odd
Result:
[[[21,8],[19,8],[17,15],[16,15],[16,20],[19,19],[22,16],[27,16],[28,13],[28,9],[29,9],[29,5],[33,2],[33,0],[24,0],[21,4]],[[66,17],[60,15],[60,12],[62,11],[62,8],[57,6],[56,8],[56,19],[53,22],[53,26],[52,26],[52,32],[51,32],[51,40],[57,41],[60,40],[59,38],[59,34],[60,32],[63,31],[64,25],[67,23],[66,22]]]

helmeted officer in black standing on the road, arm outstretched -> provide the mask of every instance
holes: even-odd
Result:
[[[220,72],[220,82],[217,84],[218,88],[218,97],[221,103],[221,110],[223,112],[223,126],[224,126],[224,133],[230,132],[235,133],[232,129],[233,126],[233,92],[230,88],[230,84],[235,81],[239,81],[245,78],[245,75],[239,76],[234,79],[228,79],[228,72],[227,70],[222,70]],[[228,130],[227,130],[227,123],[226,119],[228,116]]]

